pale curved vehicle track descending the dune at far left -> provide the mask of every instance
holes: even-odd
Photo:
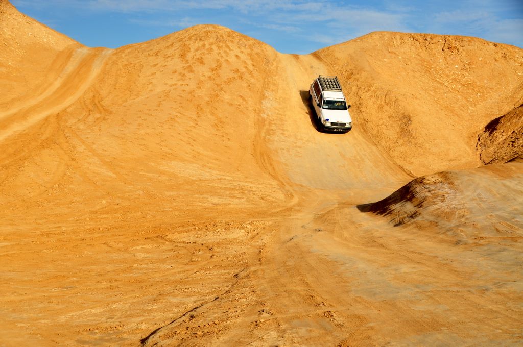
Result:
[[[0,112],[0,141],[76,101],[98,76],[111,50],[79,48],[56,82],[25,105]]]

